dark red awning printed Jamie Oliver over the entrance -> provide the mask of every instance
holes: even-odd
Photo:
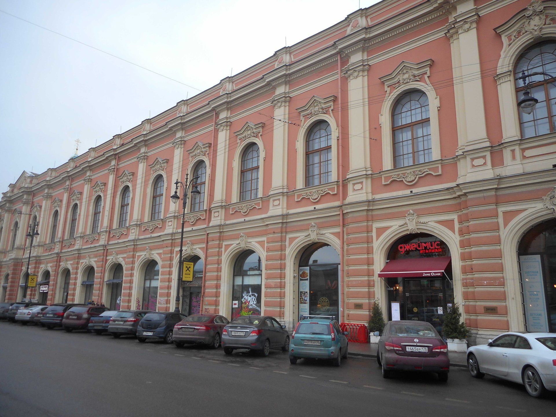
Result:
[[[416,259],[394,259],[388,261],[379,272],[381,278],[421,278],[440,277],[450,265],[451,256]]]

